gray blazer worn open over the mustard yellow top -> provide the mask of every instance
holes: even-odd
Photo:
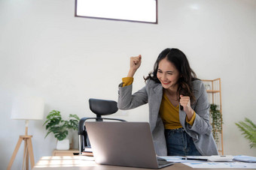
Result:
[[[192,82],[196,102],[191,104],[196,112],[193,126],[187,124],[186,113],[179,110],[179,120],[186,133],[192,137],[197,150],[203,156],[218,155],[218,149],[212,136],[212,126],[209,122],[209,102],[203,82]],[[119,109],[134,109],[148,103],[149,124],[154,141],[154,148],[158,156],[166,156],[166,139],[164,136],[163,121],[159,115],[163,96],[163,87],[160,83],[148,80],[141,90],[132,94],[133,85],[119,87],[117,106]]]

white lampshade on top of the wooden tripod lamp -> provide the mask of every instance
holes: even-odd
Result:
[[[11,119],[42,120],[44,100],[41,97],[15,97]]]

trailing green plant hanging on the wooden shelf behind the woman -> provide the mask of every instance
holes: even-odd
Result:
[[[211,104],[210,115],[212,118],[212,135],[215,139],[215,142],[218,143],[218,134],[221,133],[223,121],[221,112],[217,105]]]

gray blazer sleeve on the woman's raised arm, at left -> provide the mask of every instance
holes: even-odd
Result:
[[[146,87],[132,94],[133,85],[118,87],[117,107],[121,110],[134,109],[148,103]]]

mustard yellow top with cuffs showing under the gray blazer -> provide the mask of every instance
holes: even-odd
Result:
[[[124,77],[122,79],[122,82],[123,82],[122,87],[127,85],[132,85],[133,77]],[[160,117],[163,120],[165,129],[173,130],[173,129],[182,127],[179,121],[178,112],[179,112],[179,106],[173,106],[172,103],[169,101],[168,97],[166,96],[166,94],[163,93],[159,113],[160,113]],[[188,124],[193,125],[195,118],[196,118],[196,113],[194,112],[194,115],[191,118],[191,120],[188,121],[188,119],[186,118],[186,121]]]

